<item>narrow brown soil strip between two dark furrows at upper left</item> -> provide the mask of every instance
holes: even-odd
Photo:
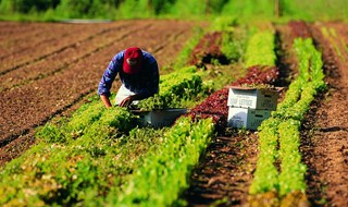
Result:
[[[92,36],[83,41],[75,42],[64,50],[52,53],[32,64],[24,65],[17,70],[11,71],[0,76],[2,83],[0,92],[28,84],[33,81],[45,78],[54,73],[69,69],[71,64],[92,56],[95,52],[111,46],[114,41],[120,41],[138,29],[145,29],[149,25],[139,25],[129,29],[128,27],[116,27],[103,34]]]

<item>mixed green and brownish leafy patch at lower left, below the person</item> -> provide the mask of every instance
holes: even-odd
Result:
[[[91,108],[91,106],[89,106]],[[85,117],[89,108],[80,110],[72,120]],[[104,110],[85,133],[69,142],[41,142],[14,159],[0,172],[1,205],[100,205],[102,195],[113,185],[124,182],[120,175],[129,173],[137,158],[161,143],[163,130],[139,130],[115,138],[119,131],[133,127],[135,118],[123,108]],[[85,117],[86,118],[86,117]],[[78,123],[75,122],[74,123]],[[46,126],[47,135],[70,134],[66,125]],[[57,129],[59,129],[57,131]],[[76,127],[73,127],[76,129]],[[58,132],[58,134],[55,134]],[[11,184],[10,184],[11,183]],[[95,199],[90,199],[92,196]]]

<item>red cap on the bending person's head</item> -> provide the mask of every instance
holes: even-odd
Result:
[[[132,47],[124,52],[123,71],[127,74],[139,72],[142,65],[142,51],[140,48]]]

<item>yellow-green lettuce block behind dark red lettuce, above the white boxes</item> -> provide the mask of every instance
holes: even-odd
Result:
[[[250,37],[246,51],[246,68],[253,65],[274,66],[274,32],[259,32]]]

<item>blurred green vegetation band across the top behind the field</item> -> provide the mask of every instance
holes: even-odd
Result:
[[[0,0],[0,20],[347,20],[348,0]]]

